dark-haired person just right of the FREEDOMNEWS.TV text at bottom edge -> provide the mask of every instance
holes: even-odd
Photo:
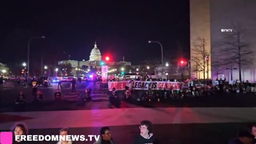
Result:
[[[116,144],[116,141],[111,137],[109,127],[102,127],[100,130],[100,138],[93,144]]]

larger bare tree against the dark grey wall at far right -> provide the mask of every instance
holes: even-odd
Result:
[[[225,54],[222,59],[223,65],[238,65],[239,80],[242,81],[242,66],[252,64],[253,51],[249,48],[250,44],[245,42],[244,29],[239,25],[233,24],[233,31],[223,37],[223,49]]]

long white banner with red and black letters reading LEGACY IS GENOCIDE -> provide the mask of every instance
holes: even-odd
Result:
[[[112,91],[113,87],[117,91],[125,90],[125,86],[132,87],[134,90],[174,90],[178,91],[182,89],[183,83],[180,82],[163,82],[163,81],[120,81],[120,82],[108,82],[108,90]]]

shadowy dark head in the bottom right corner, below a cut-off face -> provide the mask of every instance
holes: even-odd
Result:
[[[229,141],[229,144],[252,144],[254,135],[249,131],[241,130],[238,132],[237,137]]]

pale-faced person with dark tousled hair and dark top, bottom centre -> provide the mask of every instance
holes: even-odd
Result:
[[[150,121],[142,121],[139,126],[140,134],[134,139],[134,144],[156,144],[158,141],[153,136],[152,123]]]

